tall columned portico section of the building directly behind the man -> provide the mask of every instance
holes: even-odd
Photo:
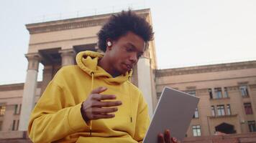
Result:
[[[152,24],[150,9],[135,11]],[[27,130],[29,114],[35,105],[37,87],[37,70],[39,63],[44,66],[41,85],[41,94],[55,73],[62,66],[75,64],[76,54],[79,51],[99,51],[96,34],[111,14],[86,16],[75,19],[49,21],[37,24],[27,24],[30,34],[29,49],[26,54],[29,61],[27,79],[24,83],[22,110],[19,119],[19,130]],[[132,82],[147,95],[150,114],[153,111],[152,97],[155,96],[153,69],[156,69],[155,45],[150,41],[149,48],[134,68]]]

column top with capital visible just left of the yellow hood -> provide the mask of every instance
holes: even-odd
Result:
[[[62,66],[68,66],[75,64],[75,52],[73,49],[63,49],[60,52]]]

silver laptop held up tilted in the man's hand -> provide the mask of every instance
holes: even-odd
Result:
[[[198,97],[165,87],[143,142],[157,142],[157,135],[165,129],[170,129],[171,137],[182,141],[198,102]]]

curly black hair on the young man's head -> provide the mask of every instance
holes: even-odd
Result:
[[[128,31],[140,36],[146,43],[153,39],[154,33],[152,26],[142,17],[131,10],[122,11],[119,14],[112,15],[102,26],[98,35],[98,46],[101,51],[106,51],[106,39],[117,40],[124,36]]]

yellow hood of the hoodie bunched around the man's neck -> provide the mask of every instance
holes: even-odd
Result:
[[[98,66],[98,61],[104,56],[104,54],[96,51],[81,51],[76,56],[76,63],[87,74],[94,78],[104,79],[109,84],[122,84],[132,77],[132,70],[127,71],[126,74],[119,75],[118,77],[112,77],[111,74],[106,72],[101,66]]]

